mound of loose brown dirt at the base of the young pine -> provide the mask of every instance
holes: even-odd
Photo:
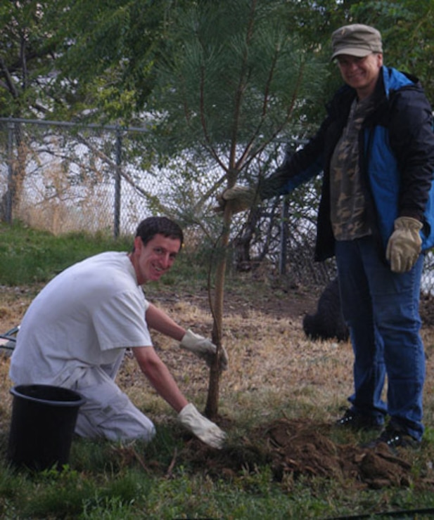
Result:
[[[385,444],[368,449],[333,443],[330,429],[329,424],[280,419],[257,429],[240,446],[219,451],[192,438],[187,456],[202,469],[205,465],[210,476],[236,476],[267,463],[279,482],[319,476],[360,488],[410,486],[411,464],[404,455],[394,455]]]

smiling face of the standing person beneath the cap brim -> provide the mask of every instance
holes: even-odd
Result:
[[[370,96],[383,65],[383,54],[372,53],[364,58],[341,54],[337,59],[344,82],[356,89],[359,99]]]

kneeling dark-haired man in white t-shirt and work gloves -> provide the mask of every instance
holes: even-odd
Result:
[[[146,301],[141,285],[159,280],[183,244],[181,228],[166,217],[141,221],[129,254],[97,254],[65,269],[32,301],[20,325],[11,358],[15,384],[50,384],[82,394],[76,432],[113,441],[155,435],[151,420],[115,384],[125,349],[177,412],[181,424],[208,445],[221,448],[224,432],[200,415],[155,352],[150,329],[180,342],[212,363],[216,347],[174,323]],[[226,352],[219,366],[227,366]]]

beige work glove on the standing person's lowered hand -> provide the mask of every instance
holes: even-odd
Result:
[[[421,254],[422,223],[411,216],[400,216],[395,220],[395,231],[389,238],[385,257],[390,261],[394,273],[409,271]]]

